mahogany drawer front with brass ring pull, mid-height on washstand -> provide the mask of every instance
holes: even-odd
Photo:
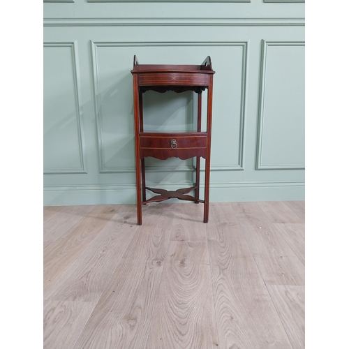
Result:
[[[206,148],[206,136],[158,136],[140,137],[141,149],[202,149]]]

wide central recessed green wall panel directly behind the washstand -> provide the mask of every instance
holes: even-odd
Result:
[[[92,43],[101,172],[134,171],[133,55],[141,64],[201,64],[210,55],[214,75],[211,170],[241,170],[244,134],[246,43]],[[207,105],[203,98],[205,131]],[[145,131],[196,130],[197,96],[143,95]],[[222,152],[219,149],[224,149]],[[170,158],[170,168],[179,166]],[[183,163],[183,162],[181,162]],[[191,161],[186,162],[187,165]],[[147,159],[157,167],[158,161]],[[159,167],[161,168],[161,167]]]

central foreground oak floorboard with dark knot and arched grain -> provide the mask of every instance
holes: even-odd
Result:
[[[171,241],[146,348],[217,347],[207,244]]]

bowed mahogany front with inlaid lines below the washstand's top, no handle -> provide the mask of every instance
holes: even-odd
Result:
[[[149,73],[140,74],[138,84],[140,86],[208,86],[209,75],[188,73]]]

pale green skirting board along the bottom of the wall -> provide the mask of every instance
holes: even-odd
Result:
[[[192,185],[149,184],[170,191]],[[200,186],[200,198],[203,195],[204,188]],[[151,192],[147,191],[147,198],[150,197]],[[304,181],[210,184],[209,191],[210,202],[289,201],[304,200],[304,197]],[[135,204],[135,185],[46,186],[43,198],[44,206]],[[170,199],[166,202],[179,200]]]

